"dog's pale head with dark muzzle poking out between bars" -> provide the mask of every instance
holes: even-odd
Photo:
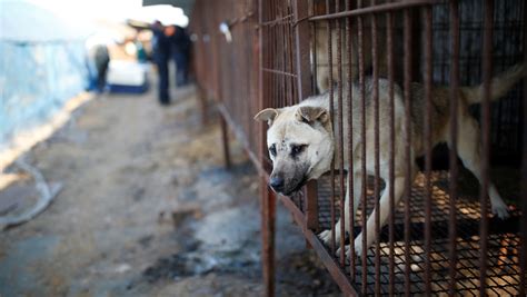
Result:
[[[255,119],[267,121],[267,148],[272,160],[269,186],[284,195],[329,170],[334,141],[329,112],[322,107],[264,109]]]

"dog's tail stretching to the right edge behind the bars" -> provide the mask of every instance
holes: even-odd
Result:
[[[518,63],[507,71],[495,77],[490,82],[490,100],[495,101],[504,97],[518,80],[527,76],[527,62]],[[480,103],[484,95],[484,86],[464,87],[461,92],[467,98],[469,105]]]

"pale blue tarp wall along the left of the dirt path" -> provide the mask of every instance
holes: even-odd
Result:
[[[86,31],[24,1],[0,1],[0,150],[88,82]],[[79,27],[80,28],[80,27]]]

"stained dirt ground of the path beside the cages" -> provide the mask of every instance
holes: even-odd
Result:
[[[261,296],[257,175],[233,140],[223,168],[209,117],[192,87],[167,108],[151,89],[77,110],[26,156],[63,188],[0,232],[0,296]],[[339,296],[282,207],[277,230],[278,296]]]

